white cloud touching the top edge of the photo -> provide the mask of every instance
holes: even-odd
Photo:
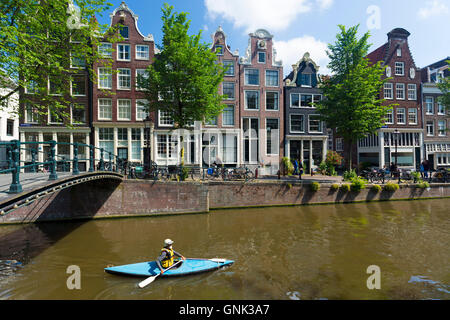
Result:
[[[311,10],[307,0],[205,0],[205,6],[211,18],[229,20],[235,28],[246,32],[263,28],[271,33],[287,29],[299,14]]]

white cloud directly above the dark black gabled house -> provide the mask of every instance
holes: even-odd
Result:
[[[327,44],[312,36],[293,38],[288,41],[274,41],[277,50],[277,59],[283,60],[284,74],[288,75],[292,71],[292,65],[297,63],[306,52],[309,52],[311,59],[320,66],[320,74],[330,74],[327,68],[330,59],[327,56]]]

